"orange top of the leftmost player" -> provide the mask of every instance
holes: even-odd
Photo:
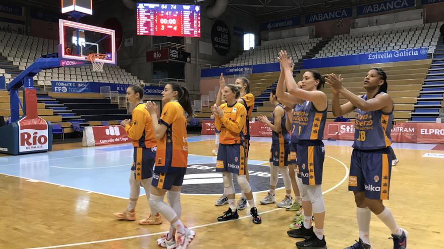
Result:
[[[157,145],[151,116],[144,103],[139,103],[132,112],[132,122],[125,126],[127,136],[136,148],[152,148]]]

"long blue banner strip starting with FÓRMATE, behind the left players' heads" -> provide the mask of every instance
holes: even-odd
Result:
[[[128,84],[115,84],[104,82],[75,82],[52,80],[52,92],[54,93],[100,93],[100,87],[109,87],[110,91],[117,91],[119,94],[126,94]],[[145,86],[146,95],[161,95],[163,87]]]

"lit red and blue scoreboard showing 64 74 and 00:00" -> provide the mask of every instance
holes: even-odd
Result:
[[[137,3],[137,34],[200,37],[200,6]]]

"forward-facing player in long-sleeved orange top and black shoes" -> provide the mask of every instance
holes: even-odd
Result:
[[[226,221],[239,218],[233,185],[233,175],[235,175],[250,204],[253,223],[260,224],[261,218],[254,203],[253,191],[245,176],[247,169],[244,137],[247,132],[245,122],[247,110],[244,105],[236,101],[239,96],[239,88],[236,85],[227,85],[223,89],[223,98],[226,103],[220,105],[220,107],[214,104],[211,108],[215,117],[215,128],[220,131],[216,172],[222,172],[229,205],[228,211],[224,212],[224,215],[218,217],[217,220]]]

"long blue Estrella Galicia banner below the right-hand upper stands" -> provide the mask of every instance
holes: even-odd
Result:
[[[373,63],[387,63],[409,60],[427,59],[427,48],[382,51],[376,53],[336,56],[302,61],[302,68],[320,68],[335,66],[351,66]]]

